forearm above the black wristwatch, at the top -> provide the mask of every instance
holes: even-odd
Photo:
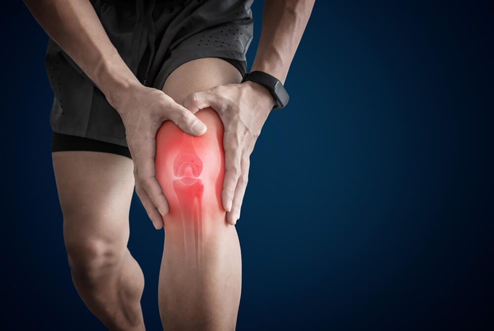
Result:
[[[266,0],[261,39],[251,71],[264,71],[282,83],[309,21],[315,0]]]

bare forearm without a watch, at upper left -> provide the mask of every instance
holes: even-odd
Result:
[[[106,34],[89,0],[24,0],[35,19],[105,94],[116,100],[138,80]]]

